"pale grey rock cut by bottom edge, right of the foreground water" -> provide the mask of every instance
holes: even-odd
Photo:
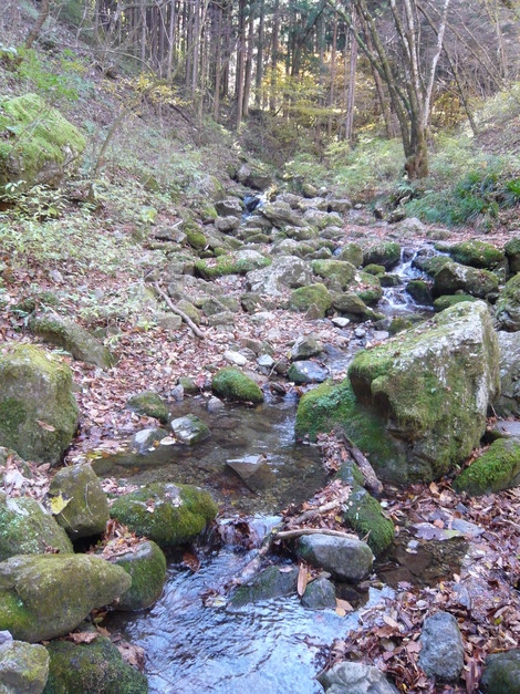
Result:
[[[381,670],[364,663],[336,663],[320,683],[327,694],[397,694]]]

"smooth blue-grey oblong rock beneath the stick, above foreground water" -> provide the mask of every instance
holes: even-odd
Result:
[[[309,563],[346,581],[364,579],[374,562],[374,556],[366,542],[332,535],[303,536],[298,541],[297,551]]]

